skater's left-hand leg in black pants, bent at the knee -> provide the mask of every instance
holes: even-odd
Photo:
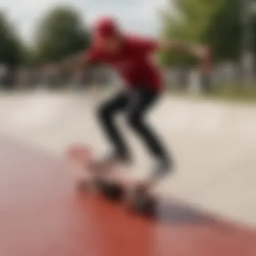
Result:
[[[127,108],[128,100],[127,92],[120,92],[113,98],[110,98],[110,100],[102,103],[98,108],[100,125],[114,148],[113,156],[125,161],[130,160],[130,154],[123,136],[117,128],[115,118],[117,113]]]

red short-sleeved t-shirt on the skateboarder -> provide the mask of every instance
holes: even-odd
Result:
[[[162,75],[150,59],[158,50],[158,41],[139,36],[125,36],[119,53],[105,53],[93,45],[86,51],[86,59],[110,65],[127,82],[130,88],[152,88],[162,90]]]

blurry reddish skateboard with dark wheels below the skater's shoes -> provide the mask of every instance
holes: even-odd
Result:
[[[143,181],[115,175],[112,168],[95,168],[92,148],[82,144],[69,146],[66,157],[70,168],[80,174],[77,179],[79,191],[94,191],[110,201],[123,203],[133,212],[152,214],[156,199]]]

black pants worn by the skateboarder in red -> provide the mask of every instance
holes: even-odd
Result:
[[[115,121],[116,115],[122,112],[126,115],[129,127],[139,135],[149,152],[156,158],[168,159],[162,142],[145,121],[148,110],[159,98],[160,95],[156,92],[143,88],[119,92],[100,106],[98,109],[100,124],[110,142],[113,143],[115,154],[119,157],[131,160],[131,152]]]

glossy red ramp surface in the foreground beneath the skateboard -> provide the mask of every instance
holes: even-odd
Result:
[[[158,218],[75,191],[65,161],[0,140],[1,256],[255,256],[256,232],[162,200]]]

